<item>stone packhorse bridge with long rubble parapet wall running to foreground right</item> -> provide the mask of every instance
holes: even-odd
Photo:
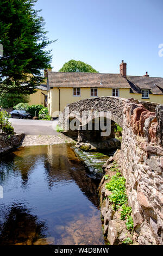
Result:
[[[110,111],[112,122],[123,128],[121,150],[117,151],[115,159],[126,178],[138,241],[140,245],[163,245],[163,105],[97,97],[74,102],[68,107],[70,112],[80,113]],[[66,117],[64,113],[64,122],[66,118],[71,119],[71,114]],[[86,130],[83,135],[80,131],[82,120],[77,118],[78,141],[84,141],[86,133],[93,134],[93,131]]]

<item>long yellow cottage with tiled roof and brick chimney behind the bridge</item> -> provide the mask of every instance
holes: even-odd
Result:
[[[48,110],[51,117],[67,104],[90,97],[133,97],[141,101],[163,103],[163,78],[127,76],[127,64],[120,64],[120,74],[48,72]]]

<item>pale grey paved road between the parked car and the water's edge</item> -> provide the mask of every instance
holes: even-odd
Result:
[[[25,135],[58,135],[55,127],[58,120],[31,120],[10,118],[10,122],[16,133],[25,133]]]

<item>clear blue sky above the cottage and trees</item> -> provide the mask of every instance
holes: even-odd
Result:
[[[53,71],[70,59],[102,73],[163,77],[162,0],[38,0],[53,49]]]

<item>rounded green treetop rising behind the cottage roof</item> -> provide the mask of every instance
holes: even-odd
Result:
[[[71,59],[69,62],[65,63],[59,72],[88,72],[88,73],[98,73],[92,66],[80,62],[80,60]]]

